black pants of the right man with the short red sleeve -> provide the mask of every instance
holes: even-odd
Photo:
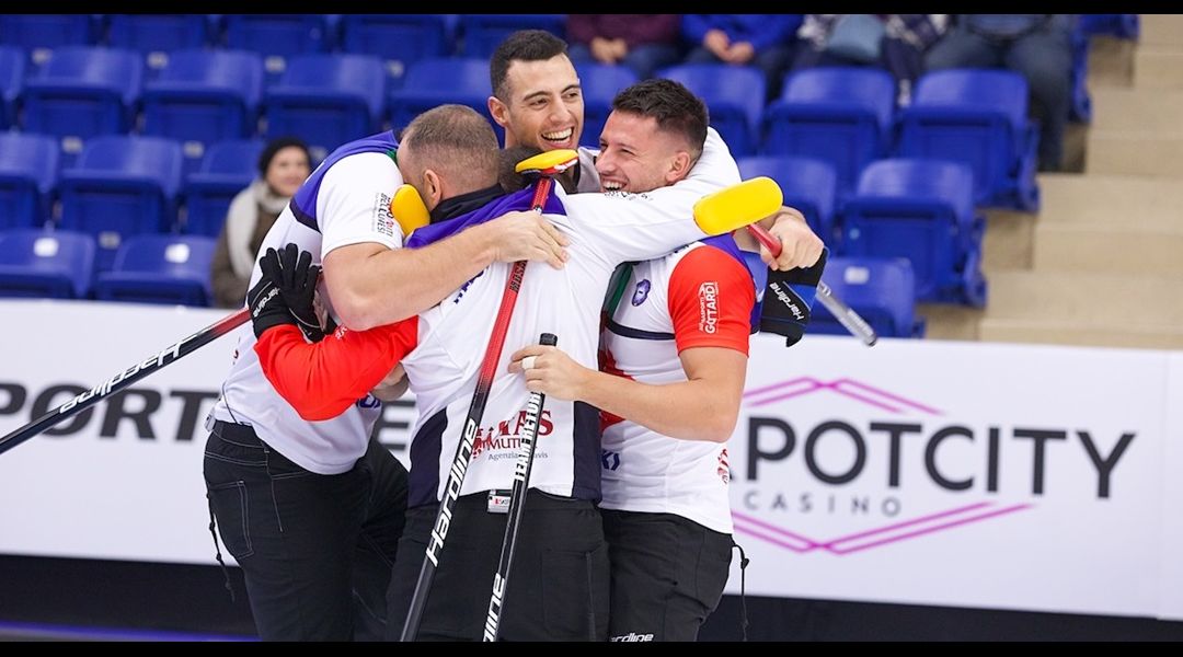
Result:
[[[601,513],[612,559],[608,640],[696,640],[723,597],[731,535],[670,513]]]

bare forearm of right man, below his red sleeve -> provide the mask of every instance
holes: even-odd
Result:
[[[722,443],[735,430],[739,403],[713,388],[705,379],[653,385],[588,370],[581,399],[665,436]]]

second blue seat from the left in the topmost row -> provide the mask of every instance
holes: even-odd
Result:
[[[209,43],[209,20],[205,14],[111,14],[108,44],[147,57],[149,70],[168,65],[169,53],[200,48]]]

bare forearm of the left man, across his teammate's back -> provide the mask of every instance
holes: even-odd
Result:
[[[383,248],[342,268],[329,253],[324,271],[334,310],[355,331],[419,314],[489,267],[493,243],[490,227],[480,225],[422,248]]]

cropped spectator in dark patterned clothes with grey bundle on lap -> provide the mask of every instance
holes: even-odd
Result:
[[[878,66],[896,78],[899,104],[924,72],[924,53],[945,31],[946,14],[806,14],[793,70]]]

